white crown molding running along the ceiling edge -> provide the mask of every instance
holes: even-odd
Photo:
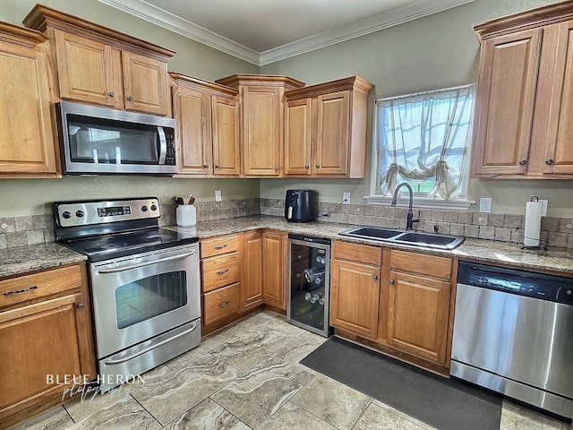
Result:
[[[258,53],[153,4],[149,4],[144,0],[98,0],[100,3],[115,7],[115,9],[130,13],[147,22],[152,22],[159,27],[173,31],[185,38],[195,40],[208,47],[218,49],[229,56],[235,56],[247,63],[258,66],[276,63],[277,61],[293,56],[300,56],[316,49],[321,49],[322,47],[329,47],[346,40],[359,38],[375,31],[388,29],[389,27],[414,21],[424,16],[440,13],[474,1],[475,0],[420,0],[398,7],[387,13],[379,13],[370,18],[340,26],[337,29],[324,31],[311,37],[296,40],[281,47],[275,47]]]

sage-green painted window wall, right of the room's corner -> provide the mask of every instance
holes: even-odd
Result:
[[[307,85],[358,74],[374,83],[370,99],[368,153],[372,147],[372,106],[376,98],[447,88],[477,80],[479,43],[472,27],[552,1],[475,0],[442,13],[261,67],[261,73],[286,74]],[[281,198],[286,189],[308,187],[321,201],[365,203],[370,193],[370,163],[362,181],[261,180],[261,197]],[[523,214],[532,195],[549,200],[548,215],[573,218],[571,180],[471,180],[469,198],[492,197],[495,213]],[[472,205],[470,211],[477,211]]]

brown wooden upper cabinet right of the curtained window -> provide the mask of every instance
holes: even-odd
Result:
[[[573,178],[573,1],[474,27],[481,43],[471,175]]]

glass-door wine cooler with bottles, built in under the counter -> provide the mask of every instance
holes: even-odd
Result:
[[[329,336],[330,241],[288,235],[288,322]]]

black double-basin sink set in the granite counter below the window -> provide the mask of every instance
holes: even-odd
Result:
[[[436,249],[455,249],[466,240],[466,236],[440,235],[381,227],[349,228],[338,234],[361,239],[380,240],[391,244],[423,246]]]

